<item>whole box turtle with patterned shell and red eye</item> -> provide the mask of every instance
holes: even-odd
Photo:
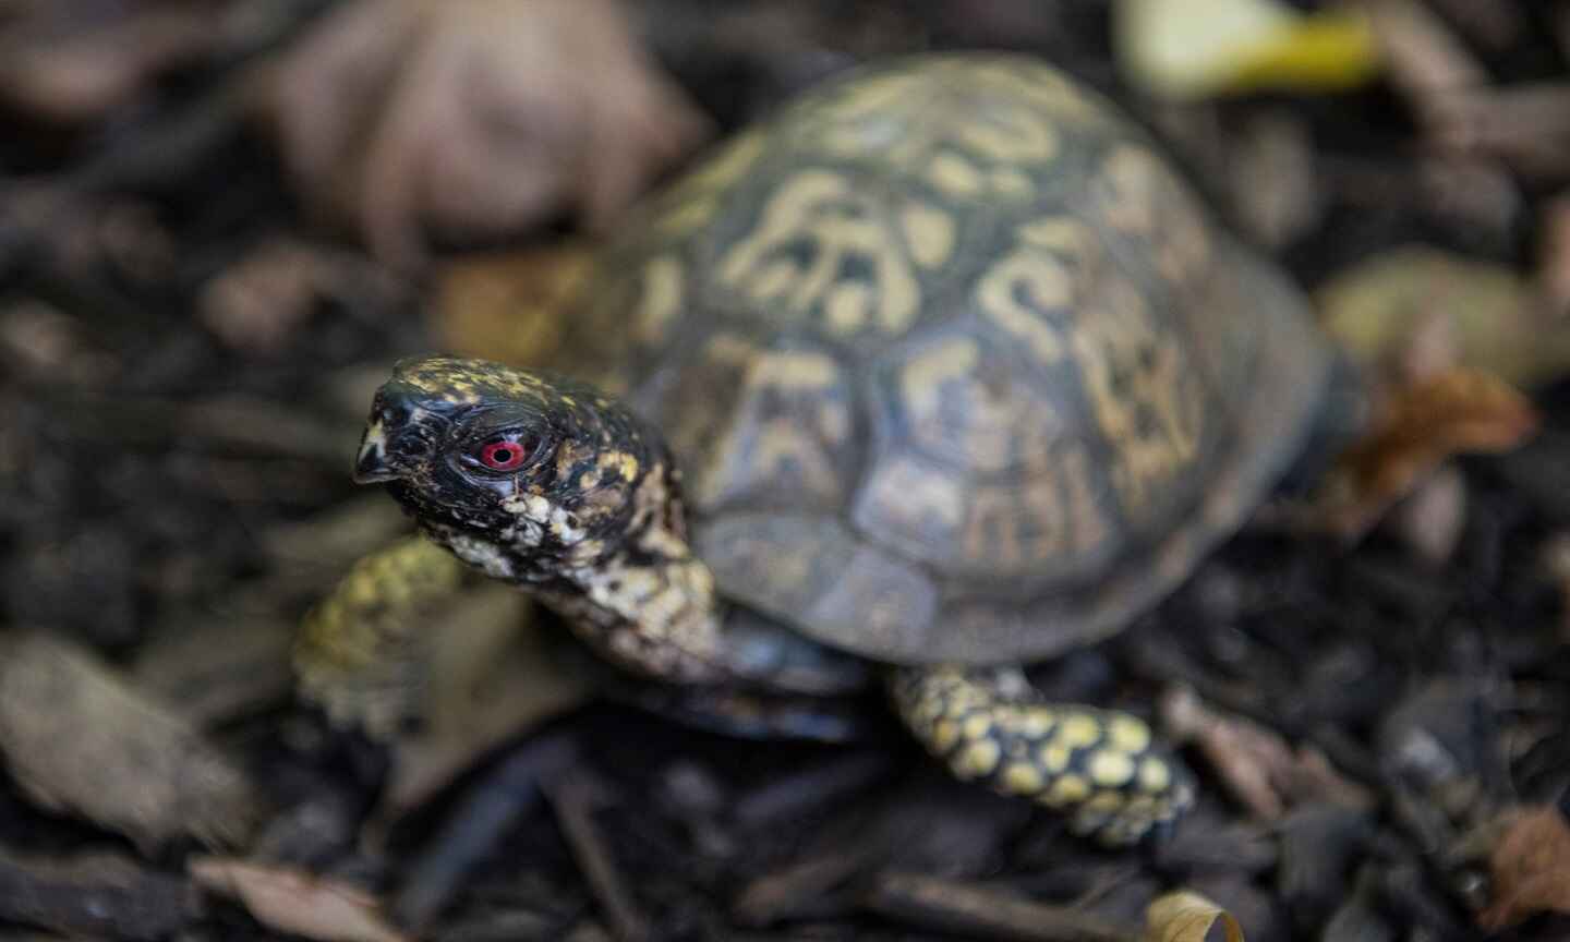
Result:
[[[314,699],[396,685],[374,612],[479,570],[666,689],[882,685],[955,776],[1108,845],[1170,831],[1193,774],[1024,667],[1234,534],[1334,364],[1134,119],[995,52],[860,66],[717,146],[535,360],[414,356],[375,392],[353,476],[421,535],[308,619]]]

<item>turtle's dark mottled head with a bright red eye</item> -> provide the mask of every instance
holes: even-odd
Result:
[[[571,380],[484,360],[399,361],[377,391],[355,462],[438,542],[490,575],[582,565],[647,521],[637,495],[669,466],[625,407]],[[499,556],[510,562],[502,565]]]

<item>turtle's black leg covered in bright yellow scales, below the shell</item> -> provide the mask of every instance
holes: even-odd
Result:
[[[1016,669],[898,667],[904,724],[955,776],[1069,815],[1074,832],[1130,845],[1193,802],[1193,779],[1143,719],[1047,703]]]

